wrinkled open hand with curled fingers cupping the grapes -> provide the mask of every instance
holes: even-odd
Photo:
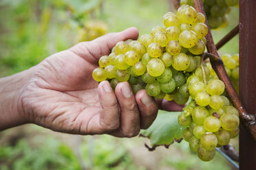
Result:
[[[100,56],[108,55],[118,41],[129,38],[138,38],[138,29],[131,27],[81,42],[35,66],[20,97],[28,122],[58,132],[119,137],[136,136],[140,129],[149,127],[156,119],[158,104],[145,90],[134,96],[129,84],[121,82],[114,92],[109,82],[98,84],[92,79]],[[167,101],[159,103],[167,110],[181,108],[167,105]]]

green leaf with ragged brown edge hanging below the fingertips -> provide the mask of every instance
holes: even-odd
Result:
[[[152,146],[170,145],[175,138],[182,138],[182,126],[177,121],[179,114],[160,110],[153,124],[141,134],[150,138]]]

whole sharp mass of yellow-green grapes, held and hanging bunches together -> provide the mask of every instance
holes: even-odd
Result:
[[[215,147],[237,136],[239,118],[222,95],[224,83],[200,62],[208,33],[204,14],[182,5],[177,15],[167,12],[162,21],[164,27],[153,27],[151,34],[118,42],[109,56],[100,58],[92,77],[98,82],[108,80],[113,89],[127,81],[134,94],[145,88],[148,95],[177,104],[186,104],[191,97],[178,123],[199,158],[211,160]]]

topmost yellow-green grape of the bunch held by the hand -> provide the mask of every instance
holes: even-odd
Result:
[[[196,12],[195,8],[189,6],[178,12],[178,16],[182,23],[193,24],[197,21],[198,12]]]

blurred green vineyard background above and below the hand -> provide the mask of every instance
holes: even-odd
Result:
[[[135,26],[140,34],[147,34],[161,25],[165,12],[174,11],[167,0],[105,0],[101,7],[100,1],[76,2],[1,1],[0,76],[28,69],[52,53],[72,47],[79,39],[79,22],[92,16],[104,21],[108,32]],[[74,16],[81,13],[77,22]],[[228,27],[212,31],[215,42],[237,25],[238,16],[238,8],[232,8]],[[220,49],[224,53],[238,53],[238,36]],[[145,138],[76,136],[36,125],[14,127],[0,136],[0,169],[233,169],[220,154],[211,162],[200,161],[185,142],[149,152]],[[238,138],[231,143],[238,149]]]

